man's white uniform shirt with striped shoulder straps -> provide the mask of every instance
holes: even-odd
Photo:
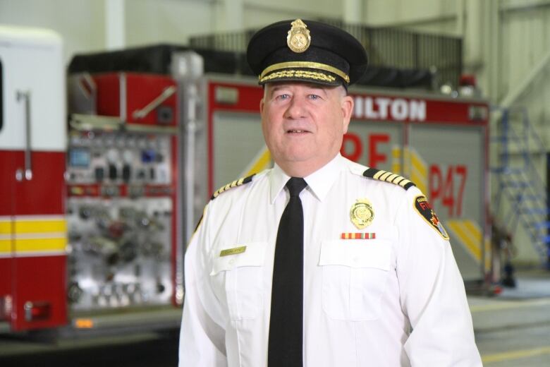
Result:
[[[451,246],[414,209],[422,194],[365,169],[337,155],[300,193],[304,366],[482,366]],[[181,367],[267,366],[288,179],[275,166],[207,205],[185,255]],[[362,198],[374,220],[358,230],[350,208]],[[348,232],[375,239],[341,239]]]

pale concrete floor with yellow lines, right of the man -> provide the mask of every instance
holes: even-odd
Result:
[[[468,301],[484,366],[550,366],[550,272],[521,272],[515,289]]]

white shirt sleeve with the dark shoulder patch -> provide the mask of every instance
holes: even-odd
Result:
[[[411,366],[482,366],[451,244],[433,212],[415,207],[422,197],[410,188],[396,216],[401,307],[412,328],[405,352]]]

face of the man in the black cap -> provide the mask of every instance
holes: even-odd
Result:
[[[291,176],[307,176],[330,162],[348,131],[353,100],[343,87],[268,83],[259,105],[274,161]]]

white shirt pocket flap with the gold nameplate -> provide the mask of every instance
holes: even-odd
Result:
[[[236,267],[263,266],[266,248],[267,242],[240,243],[219,248],[214,255],[210,275],[233,270]]]

